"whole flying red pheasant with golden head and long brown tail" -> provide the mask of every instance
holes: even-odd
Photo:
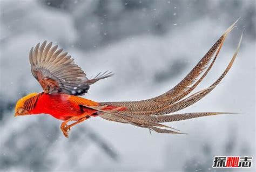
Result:
[[[237,20],[238,21],[238,20]],[[96,102],[79,95],[84,95],[95,82],[109,78],[112,72],[104,72],[88,79],[85,72],[74,63],[73,58],[58,46],[43,42],[32,47],[29,53],[31,72],[43,88],[42,93],[30,93],[17,101],[15,116],[50,114],[62,120],[60,129],[65,137],[69,136],[71,127],[77,125],[91,116],[130,123],[137,127],[148,128],[157,133],[185,134],[163,122],[172,122],[228,114],[227,112],[198,112],[172,114],[193,105],[210,93],[230,70],[242,40],[242,35],[230,63],[221,76],[212,85],[199,92],[191,94],[211,70],[224,40],[234,28],[237,21],[224,32],[214,43],[205,56],[176,86],[158,97],[124,102]],[[71,123],[68,125],[68,123]]]

